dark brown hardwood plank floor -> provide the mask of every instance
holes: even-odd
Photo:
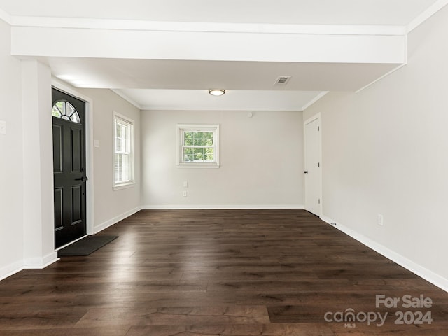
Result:
[[[100,235],[120,237],[0,281],[1,336],[448,335],[448,293],[307,211],[140,211]]]

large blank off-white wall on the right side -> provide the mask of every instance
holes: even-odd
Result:
[[[447,41],[444,8],[409,34],[407,66],[304,113],[322,116],[323,216],[445,289]]]

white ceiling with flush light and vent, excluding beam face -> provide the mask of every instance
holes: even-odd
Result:
[[[398,31],[398,27],[405,34],[412,22],[437,3],[440,0],[0,0],[0,18],[13,26],[67,25],[80,29],[126,29],[129,25],[135,29],[155,22],[160,30],[165,22],[170,25],[166,27],[176,31],[202,31],[214,24],[213,29],[235,34],[241,29],[277,29],[290,34],[309,27],[324,27],[328,34],[341,28],[355,31],[354,28],[382,27],[384,31]],[[297,50],[300,52],[300,46]],[[75,87],[110,88],[141,109],[301,111],[323,92],[359,90],[400,65],[228,61],[207,57],[36,58],[47,63],[54,76]],[[291,76],[288,85],[274,86],[278,76]],[[207,94],[209,88],[224,88],[226,94],[211,97]]]

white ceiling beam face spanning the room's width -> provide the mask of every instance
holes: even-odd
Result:
[[[406,37],[59,27],[12,28],[12,54],[34,57],[405,63]]]

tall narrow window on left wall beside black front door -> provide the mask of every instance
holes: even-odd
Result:
[[[134,185],[134,121],[114,113],[114,189]]]

